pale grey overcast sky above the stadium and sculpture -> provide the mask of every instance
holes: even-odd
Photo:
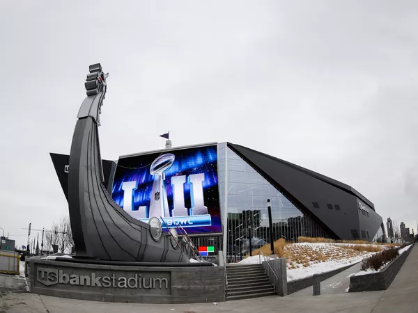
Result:
[[[89,2],[89,3],[88,3]],[[102,157],[229,141],[338,179],[384,220],[418,219],[418,1],[0,0],[0,227],[17,244],[68,204],[88,65]]]

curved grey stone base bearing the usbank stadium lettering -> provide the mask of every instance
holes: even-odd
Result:
[[[225,300],[223,267],[115,266],[31,259],[32,293],[125,303],[206,303]]]

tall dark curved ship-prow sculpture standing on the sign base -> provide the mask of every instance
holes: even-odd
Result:
[[[68,207],[76,257],[125,262],[189,262],[172,234],[132,218],[103,186],[98,137],[107,74],[90,66],[70,152]],[[160,223],[160,226],[158,226]],[[150,230],[153,230],[151,232]],[[160,237],[158,238],[158,235]],[[180,245],[181,246],[181,245]]]

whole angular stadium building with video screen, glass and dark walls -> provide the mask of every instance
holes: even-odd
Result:
[[[163,154],[171,167],[155,178],[153,167],[164,164],[153,161],[164,162]],[[68,155],[51,156],[67,196]],[[274,241],[385,240],[382,217],[353,187],[242,145],[169,147],[103,160],[102,166],[107,190],[132,217],[147,222],[160,210],[156,216],[166,230],[180,223],[179,234],[187,232],[202,255],[226,250],[227,262],[269,243],[270,225]]]

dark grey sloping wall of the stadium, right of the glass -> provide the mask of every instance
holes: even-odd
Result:
[[[359,218],[357,196],[350,192],[352,190],[350,186],[323,175],[313,175],[312,171],[268,154],[240,145],[231,143],[228,145],[333,238],[353,239],[352,230],[357,230],[357,233],[361,234],[361,219],[363,229],[369,231],[371,236],[369,240],[373,239],[372,233],[376,234],[378,229],[376,225],[382,223],[382,218],[372,209],[369,220]],[[362,200],[364,199],[362,196]],[[315,208],[312,202],[318,202],[320,207]],[[362,203],[371,202],[367,200]],[[328,204],[331,204],[332,209]],[[336,209],[335,204],[339,205],[339,210]],[[373,207],[372,203],[370,207]]]

